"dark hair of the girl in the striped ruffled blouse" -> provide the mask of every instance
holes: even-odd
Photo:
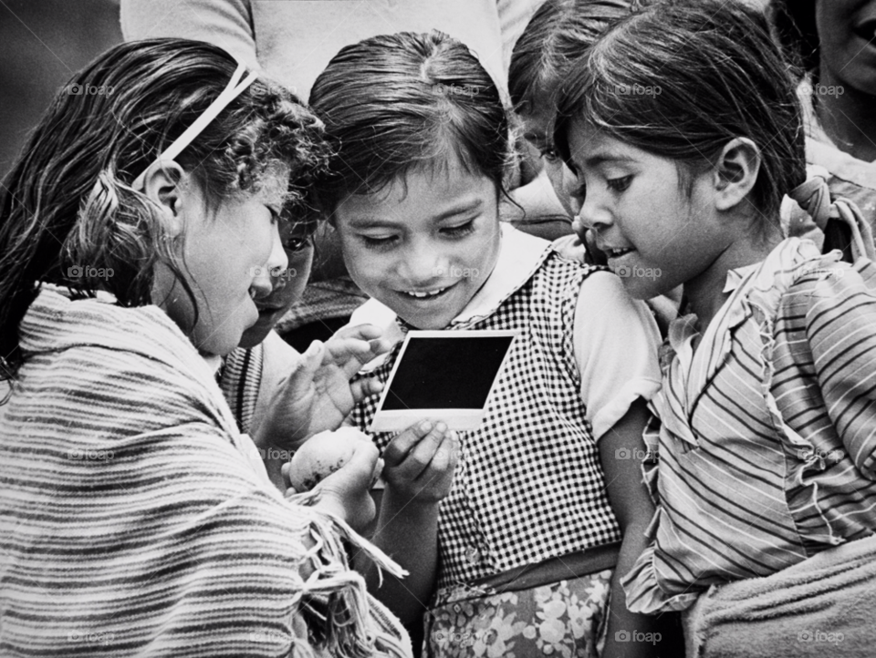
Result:
[[[744,3],[667,0],[610,27],[559,98],[554,139],[567,161],[575,118],[678,161],[682,180],[729,140],[752,139],[762,164],[751,202],[769,221],[806,179],[794,81],[765,16]]]

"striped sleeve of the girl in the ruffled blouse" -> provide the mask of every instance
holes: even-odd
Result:
[[[838,262],[795,285],[821,395],[861,473],[876,479],[876,267]]]

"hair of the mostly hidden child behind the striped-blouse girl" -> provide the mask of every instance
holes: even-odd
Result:
[[[636,0],[546,0],[529,19],[511,53],[508,92],[517,111],[551,98],[572,62],[614,21],[630,15]]]

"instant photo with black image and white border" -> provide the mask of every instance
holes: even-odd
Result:
[[[516,331],[410,331],[383,388],[371,432],[400,432],[418,420],[449,429],[481,424]]]

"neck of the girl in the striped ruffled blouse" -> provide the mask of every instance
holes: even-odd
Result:
[[[763,261],[783,239],[777,229],[770,231],[767,236],[757,235],[756,232],[748,231],[746,235],[731,243],[715,259],[711,267],[695,279],[684,283],[684,296],[691,306],[691,312],[696,315],[700,335],[705,333],[714,316],[730,296],[724,292],[727,272]]]

